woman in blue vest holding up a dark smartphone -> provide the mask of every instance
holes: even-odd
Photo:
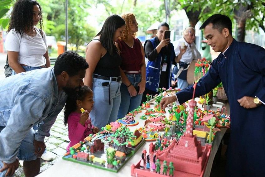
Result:
[[[157,36],[145,41],[145,57],[148,59],[146,67],[146,85],[142,102],[147,100],[146,94],[155,95],[158,88],[168,89],[171,84],[171,66],[178,62],[174,46],[170,38],[165,39],[165,31],[169,31],[166,22],[159,24]]]

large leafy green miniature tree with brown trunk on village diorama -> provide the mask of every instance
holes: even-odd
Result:
[[[113,142],[118,145],[117,151],[124,152],[125,154],[129,154],[131,149],[127,146],[130,142],[132,146],[134,146],[133,140],[136,139],[136,136],[133,135],[133,132],[130,132],[129,128],[126,126],[119,127],[114,134],[111,135],[114,137],[108,138],[108,140],[113,140]]]

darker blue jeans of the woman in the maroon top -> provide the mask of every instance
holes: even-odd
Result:
[[[137,87],[137,84],[141,81],[141,74],[125,75],[134,87]],[[142,94],[138,95],[137,93],[136,96],[131,97],[128,88],[125,84],[121,85],[120,90],[122,97],[117,119],[125,117],[128,112],[132,111],[135,108],[138,108],[142,100]]]

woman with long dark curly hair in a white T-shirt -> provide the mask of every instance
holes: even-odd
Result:
[[[36,27],[39,23],[40,29]],[[42,12],[35,0],[18,0],[13,7],[5,41],[12,75],[50,67]]]

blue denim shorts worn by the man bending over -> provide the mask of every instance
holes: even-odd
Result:
[[[4,128],[5,127],[0,126],[0,132],[2,132]],[[12,141],[12,139],[10,139],[10,141]],[[17,157],[19,160],[29,161],[37,159],[37,155],[34,154],[35,147],[33,142],[34,142],[34,130],[33,128],[31,128],[28,134],[26,135],[26,137],[22,140],[21,145],[18,147]],[[8,145],[6,145],[6,147],[8,148]],[[0,159],[0,166],[2,165],[1,163],[2,160]]]

